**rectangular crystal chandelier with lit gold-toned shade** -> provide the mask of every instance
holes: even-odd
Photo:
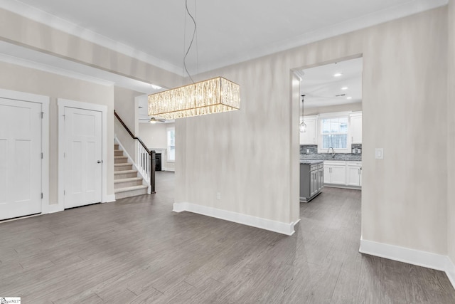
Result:
[[[149,116],[166,120],[240,109],[240,85],[216,77],[149,95]]]

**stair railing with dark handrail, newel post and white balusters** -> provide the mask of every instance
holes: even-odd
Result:
[[[137,168],[141,172],[142,176],[146,177],[146,179],[150,183],[151,193],[155,193],[155,151],[150,151],[142,140],[135,136],[125,125],[122,118],[119,117],[117,112],[114,110],[114,115],[119,120],[120,124],[127,130],[129,136],[132,137],[133,140],[137,140],[137,150],[138,150],[138,159],[137,159]]]

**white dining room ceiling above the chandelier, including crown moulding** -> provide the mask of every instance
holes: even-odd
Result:
[[[415,14],[447,1],[188,0],[198,34],[187,63],[195,74]],[[188,46],[192,31],[184,5],[184,0],[0,0],[1,8],[179,74],[183,74],[184,41]]]

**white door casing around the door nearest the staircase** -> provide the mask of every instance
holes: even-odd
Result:
[[[92,110],[101,112],[102,120],[102,140],[101,140],[101,149],[102,149],[102,196],[101,202],[107,202],[107,106],[106,105],[97,105],[95,103],[83,103],[75,100],[67,100],[63,98],[57,99],[58,105],[58,205],[61,209],[65,209],[63,196],[63,186],[65,184],[65,166],[63,159],[63,151],[65,151],[65,125],[64,115],[65,108],[78,108],[84,110]],[[110,199],[110,198],[109,198]]]

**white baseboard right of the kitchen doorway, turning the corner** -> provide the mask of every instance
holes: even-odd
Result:
[[[444,271],[455,288],[455,265],[449,256],[360,239],[361,253]]]

